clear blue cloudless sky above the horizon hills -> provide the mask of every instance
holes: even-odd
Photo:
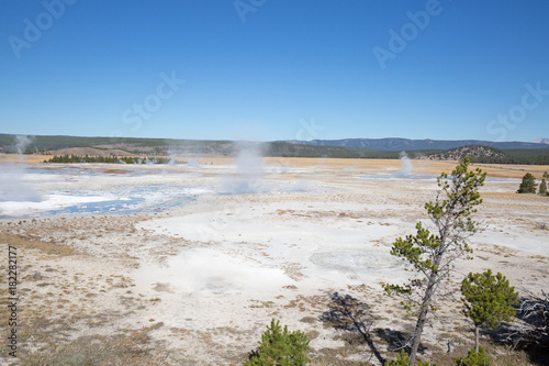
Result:
[[[549,137],[547,0],[64,1],[0,1],[0,133]]]

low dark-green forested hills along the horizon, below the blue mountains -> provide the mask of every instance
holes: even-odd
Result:
[[[395,138],[386,138],[395,140]],[[403,140],[403,138],[401,138]],[[18,146],[15,136],[0,134],[0,153],[44,155],[101,155],[101,156],[187,156],[187,155],[222,155],[234,156],[242,147],[242,142],[205,141],[205,140],[170,140],[170,138],[112,138],[81,136],[33,136],[25,140],[24,146]],[[507,143],[514,144],[514,143]],[[405,151],[411,158],[460,160],[469,155],[477,163],[495,164],[537,164],[549,165],[549,145],[536,143],[517,143],[525,146],[536,145],[537,148],[496,148],[489,145],[468,145],[456,148],[414,149],[410,146],[396,145],[391,148],[365,148],[352,146],[327,146],[314,144],[295,144],[288,142],[260,143],[264,156],[273,157],[323,157],[323,158],[399,158]],[[419,145],[414,145],[415,147]],[[540,146],[547,146],[540,148]],[[81,152],[65,152],[63,149],[80,147]],[[90,153],[86,148],[93,148]]]

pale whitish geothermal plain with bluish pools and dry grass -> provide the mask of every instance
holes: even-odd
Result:
[[[2,160],[9,192],[0,201],[0,241],[18,248],[21,365],[237,365],[271,319],[309,335],[313,365],[380,365],[414,324],[381,289],[410,275],[390,247],[418,221],[428,223],[424,204],[436,197],[436,176],[456,166],[40,160]],[[482,168],[484,202],[474,218],[483,230],[450,287],[492,268],[519,292],[547,290],[549,198],[515,191],[525,173],[540,178],[549,167]],[[351,312],[370,314],[361,319],[369,341],[337,314],[346,296]],[[459,293],[441,301],[421,357],[445,365],[470,348],[472,328]],[[446,354],[449,341],[456,354]],[[492,352],[505,357],[503,347]],[[9,364],[7,352],[0,361]]]

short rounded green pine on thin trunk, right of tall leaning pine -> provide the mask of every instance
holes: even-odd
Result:
[[[505,276],[492,270],[482,274],[470,273],[461,282],[461,293],[466,310],[463,313],[474,323],[474,351],[479,352],[481,328],[494,329],[513,319],[518,303],[518,293],[509,286]]]

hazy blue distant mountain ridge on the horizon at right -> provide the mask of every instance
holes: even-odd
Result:
[[[485,145],[495,148],[549,148],[549,138],[538,138],[531,142],[491,142],[480,140],[410,140],[410,138],[344,138],[344,140],[288,140],[285,143],[317,145],[317,146],[341,146],[341,147],[366,147],[383,151],[414,151],[414,149],[449,149],[468,145]]]

